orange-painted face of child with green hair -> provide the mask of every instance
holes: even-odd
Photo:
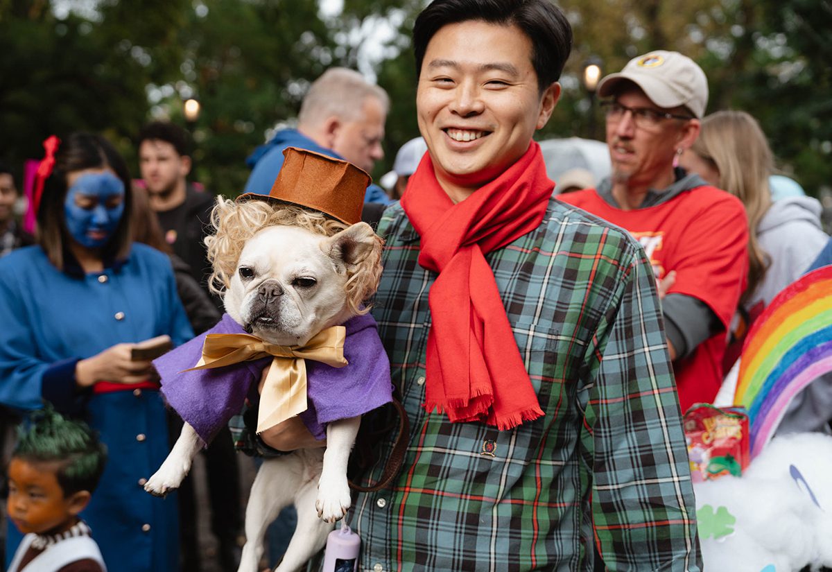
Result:
[[[57,463],[12,459],[8,466],[9,518],[23,534],[57,532],[73,512],[73,499],[63,495]]]

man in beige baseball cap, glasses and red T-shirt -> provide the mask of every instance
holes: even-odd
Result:
[[[705,73],[678,52],[636,57],[601,81],[612,175],[564,202],[641,242],[664,296],[667,345],[682,412],[712,402],[726,330],[745,288],[748,224],[740,200],[688,175],[677,158],[699,136]]]

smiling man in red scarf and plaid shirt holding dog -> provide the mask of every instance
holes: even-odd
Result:
[[[379,224],[373,310],[411,430],[398,479],[354,503],[361,570],[588,571],[596,548],[609,570],[701,568],[649,260],[552,200],[532,141],[571,46],[548,0],[416,20],[428,154]]]

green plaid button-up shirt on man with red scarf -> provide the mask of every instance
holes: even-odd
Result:
[[[424,411],[436,274],[418,265],[419,237],[400,205],[379,234],[373,314],[411,430],[394,486],[360,493],[350,510],[360,569],[588,572],[597,543],[608,570],[701,570],[681,414],[641,246],[552,200],[537,230],[486,255],[545,412],[498,431]],[[359,481],[378,482],[383,465]]]

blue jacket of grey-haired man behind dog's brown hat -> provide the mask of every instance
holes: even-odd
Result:
[[[283,151],[286,147],[299,147],[300,149],[315,151],[321,155],[329,155],[335,159],[344,159],[334,150],[318,145],[296,129],[278,131],[271,141],[257,147],[245,160],[245,164],[252,168],[249,180],[245,183],[246,193],[269,194],[271,185],[275,184],[277,174],[280,173],[280,167],[283,166]],[[364,194],[364,202],[389,205],[393,200],[384,193],[379,185],[371,184]]]

